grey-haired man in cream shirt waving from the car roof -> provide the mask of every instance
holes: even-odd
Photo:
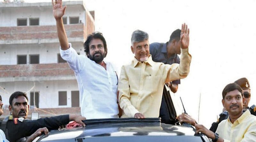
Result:
[[[124,65],[118,84],[119,103],[123,117],[158,117],[164,83],[185,78],[189,72],[191,56],[188,53],[189,29],[184,23],[181,28],[180,64],[157,63],[149,54],[148,34],[136,30],[132,33],[131,64]]]

